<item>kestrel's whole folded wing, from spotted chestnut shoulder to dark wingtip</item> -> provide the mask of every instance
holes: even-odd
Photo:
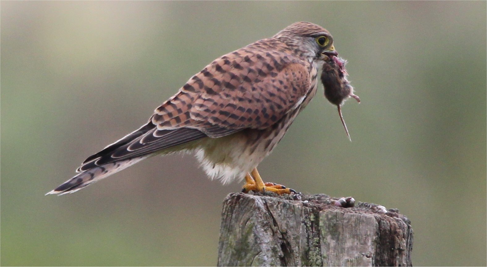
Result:
[[[88,157],[78,172],[205,136],[264,129],[296,108],[311,86],[292,56],[241,49],[215,60],[155,110],[149,122]]]

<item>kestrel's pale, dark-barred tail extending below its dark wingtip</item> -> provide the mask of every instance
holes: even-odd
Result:
[[[68,193],[74,193],[79,189],[88,186],[89,184],[93,184],[105,177],[108,177],[116,172],[119,172],[135,163],[149,157],[141,156],[131,159],[119,160],[112,163],[108,163],[102,166],[97,166],[92,169],[80,172],[75,175],[75,177],[69,179],[68,181],[64,182],[63,184],[56,187],[56,189],[52,190],[51,192],[47,193],[46,195],[64,195]]]

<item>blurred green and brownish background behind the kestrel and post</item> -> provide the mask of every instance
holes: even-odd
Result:
[[[416,266],[486,263],[486,1],[1,1],[2,266],[215,265],[222,201],[189,155],[44,194],[218,56],[328,29],[362,103],[320,87],[266,181],[412,220]]]

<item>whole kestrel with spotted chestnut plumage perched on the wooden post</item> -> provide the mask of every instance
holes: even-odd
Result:
[[[191,77],[149,122],[88,157],[73,178],[47,194],[73,193],[145,158],[177,151],[194,151],[211,179],[245,179],[244,192],[293,193],[263,183],[257,166],[315,96],[318,67],[337,55],[330,33],[309,22],[225,54]]]

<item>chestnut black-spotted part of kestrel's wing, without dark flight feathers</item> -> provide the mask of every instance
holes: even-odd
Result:
[[[309,65],[308,65],[309,66]],[[282,52],[229,53],[194,75],[156,109],[157,128],[196,128],[210,137],[277,122],[311,87],[309,69]]]

